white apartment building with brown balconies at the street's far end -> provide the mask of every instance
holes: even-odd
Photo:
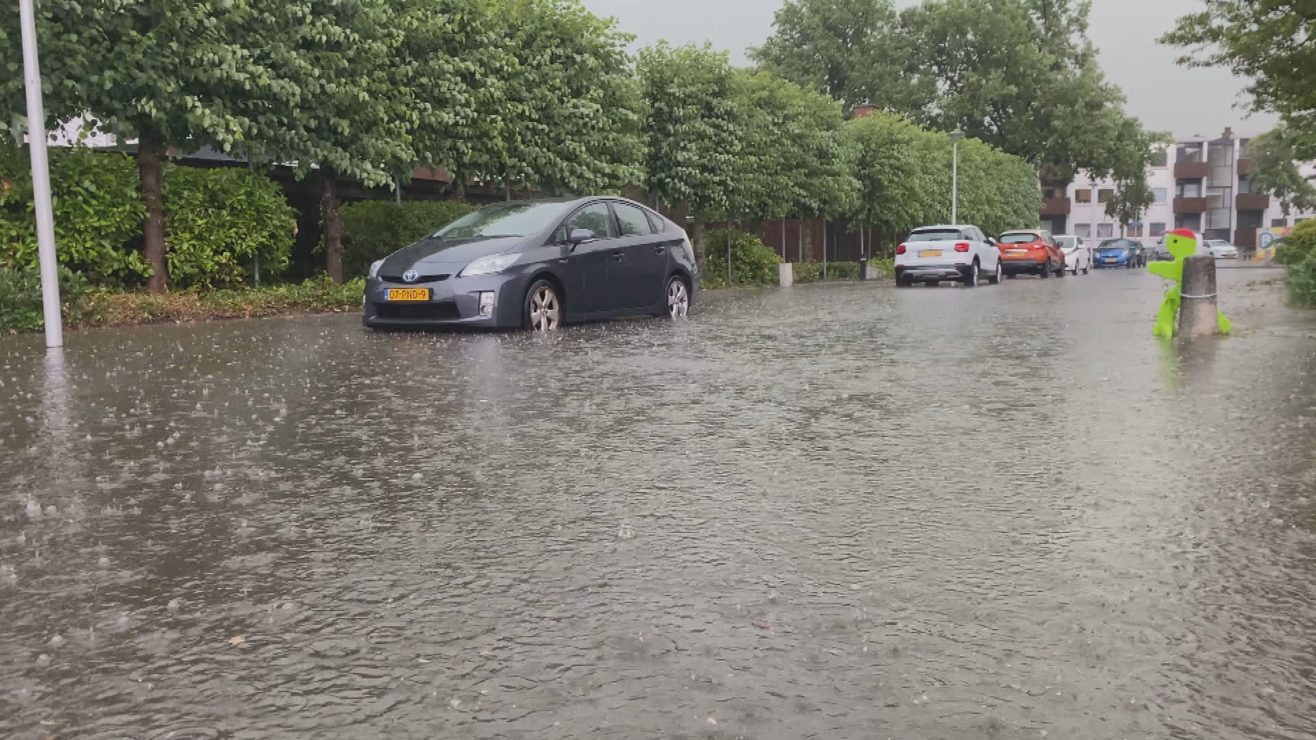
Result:
[[[1042,226],[1057,234],[1096,238],[1158,237],[1187,228],[1244,250],[1255,249],[1262,229],[1291,228],[1316,213],[1292,212],[1286,219],[1278,200],[1253,192],[1250,141],[1225,129],[1219,138],[1186,137],[1162,150],[1148,169],[1155,201],[1123,234],[1116,219],[1105,215],[1113,182],[1079,175],[1067,188],[1044,183]],[[1316,163],[1303,165],[1303,172],[1316,175]]]

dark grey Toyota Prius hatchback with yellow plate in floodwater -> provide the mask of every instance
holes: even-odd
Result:
[[[468,213],[370,266],[366,327],[526,328],[687,315],[686,232],[621,198],[515,200]]]

